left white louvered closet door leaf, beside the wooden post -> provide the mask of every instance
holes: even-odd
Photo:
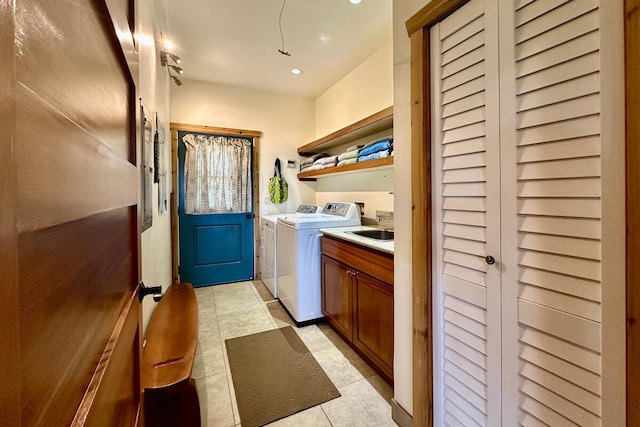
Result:
[[[497,20],[472,0],[431,29],[435,425],[500,419]]]

